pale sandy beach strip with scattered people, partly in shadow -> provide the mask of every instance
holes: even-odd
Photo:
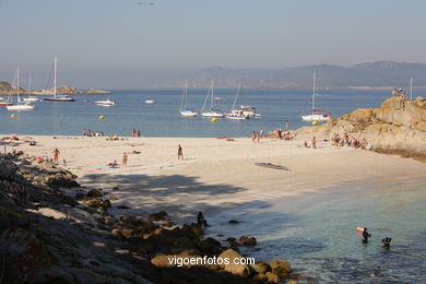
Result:
[[[313,192],[330,187],[342,190],[354,182],[368,185],[425,179],[426,164],[399,156],[354,149],[335,149],[318,143],[316,150],[298,146],[301,141],[249,138],[235,141],[214,138],[106,138],[33,137],[16,150],[29,155],[52,157],[58,147],[60,161],[87,188],[102,188],[113,205],[126,204],[135,213],[166,210],[174,216],[193,216],[199,210],[221,210],[253,201],[273,202],[289,194]],[[185,161],[177,159],[177,145]],[[10,151],[10,149],[9,149]],[[129,166],[121,167],[122,153]],[[117,159],[119,168],[108,168]],[[256,166],[271,162],[291,171]],[[118,190],[113,188],[117,187]]]

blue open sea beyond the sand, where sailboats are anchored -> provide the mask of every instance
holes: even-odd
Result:
[[[189,106],[200,110],[206,90],[189,90]],[[374,108],[390,96],[383,90],[318,90],[316,108],[340,117],[356,108]],[[423,93],[423,94],[422,94]],[[229,111],[236,90],[215,90],[215,108]],[[0,133],[81,135],[85,130],[105,134],[130,135],[131,129],[142,137],[249,137],[253,130],[297,129],[309,123],[300,115],[311,111],[308,90],[244,90],[244,105],[255,106],[261,118],[234,121],[198,117],[181,117],[178,113],[182,90],[113,90],[110,95],[76,95],[76,102],[39,102],[33,111],[12,113],[0,107]],[[426,95],[418,91],[416,95]],[[110,98],[115,106],[98,106],[94,102]],[[154,104],[145,104],[152,98]],[[12,116],[14,115],[14,116]],[[100,119],[100,117],[103,119]]]

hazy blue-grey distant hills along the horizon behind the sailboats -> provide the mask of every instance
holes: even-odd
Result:
[[[212,80],[218,87],[236,87],[244,81],[250,88],[309,88],[312,72],[320,88],[406,87],[413,76],[415,87],[426,87],[426,64],[377,61],[350,67],[319,64],[279,70],[225,69],[211,67],[192,73],[158,79],[152,87],[208,86]]]

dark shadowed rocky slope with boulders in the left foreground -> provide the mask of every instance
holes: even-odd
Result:
[[[241,259],[253,237],[218,241],[166,212],[115,217],[117,200],[87,189],[51,161],[0,157],[0,259],[3,283],[297,283],[289,263],[173,265],[173,257]],[[119,206],[126,212],[128,208]]]

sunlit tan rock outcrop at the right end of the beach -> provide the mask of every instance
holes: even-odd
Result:
[[[426,99],[388,98],[376,109],[356,109],[318,127],[297,130],[299,138],[330,140],[333,133],[366,139],[379,153],[400,154],[426,162]]]

